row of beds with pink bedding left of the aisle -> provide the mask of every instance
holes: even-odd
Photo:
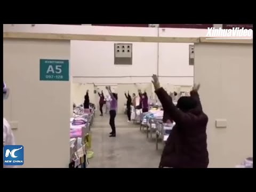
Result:
[[[70,163],[69,168],[86,168],[89,165],[86,143],[89,142],[89,133],[95,116],[93,107],[84,109],[81,106],[74,108],[70,118]]]

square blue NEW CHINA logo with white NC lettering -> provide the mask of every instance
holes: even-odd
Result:
[[[4,165],[23,165],[24,147],[21,145],[4,146]]]

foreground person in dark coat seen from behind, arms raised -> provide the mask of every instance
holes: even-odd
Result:
[[[172,98],[160,86],[156,75],[153,75],[152,83],[158,99],[175,122],[172,134],[166,141],[159,167],[207,168],[208,117],[203,112],[199,99],[199,85],[193,87],[190,97],[181,97],[175,106]]]

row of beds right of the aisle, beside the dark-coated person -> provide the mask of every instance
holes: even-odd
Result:
[[[176,104],[176,103],[174,103]],[[174,123],[163,123],[163,110],[160,110],[159,106],[151,106],[150,110],[146,113],[142,113],[141,109],[135,109],[133,113],[133,123],[140,124],[140,131],[146,130],[147,139],[155,139],[156,150],[158,150],[158,143],[165,145]],[[134,114],[135,113],[135,114]]]

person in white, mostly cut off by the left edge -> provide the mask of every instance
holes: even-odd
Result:
[[[9,89],[7,89],[4,83],[4,99],[7,99],[9,96]],[[12,133],[12,129],[8,121],[3,118],[3,146],[5,145],[15,145],[14,136]],[[4,165],[4,168],[15,168],[14,165]]]

